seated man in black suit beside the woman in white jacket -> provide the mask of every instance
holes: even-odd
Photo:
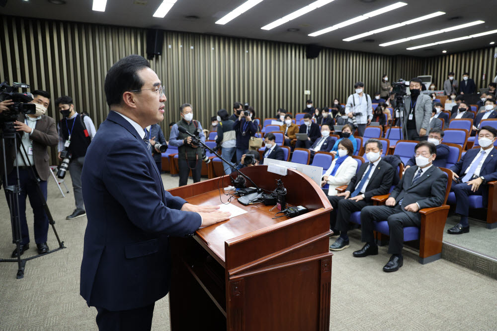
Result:
[[[371,197],[388,194],[394,180],[395,169],[381,158],[381,141],[368,139],[364,150],[369,162],[361,165],[345,192],[328,196],[333,207],[330,213],[330,228],[335,235],[340,235],[330,246],[332,251],[341,251],[349,246],[347,231],[350,215],[365,206],[373,205]]]

